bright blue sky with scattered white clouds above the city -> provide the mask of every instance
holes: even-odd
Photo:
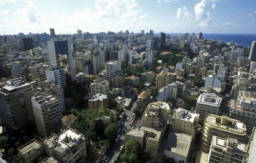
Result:
[[[255,0],[0,0],[0,35],[256,33]]]

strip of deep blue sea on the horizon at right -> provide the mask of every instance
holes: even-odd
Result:
[[[166,35],[170,36],[178,36],[184,35],[184,33],[166,33]],[[191,33],[189,33],[191,35]],[[198,35],[198,33],[195,33]],[[212,38],[216,41],[220,42],[234,42],[239,43],[239,45],[245,47],[251,47],[252,41],[256,41],[256,34],[221,34],[221,33],[203,33],[203,37],[207,40],[211,40]]]

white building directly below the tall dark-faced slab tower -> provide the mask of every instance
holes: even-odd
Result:
[[[48,70],[45,70],[46,79],[54,82],[62,88],[67,86],[64,68],[51,66]]]

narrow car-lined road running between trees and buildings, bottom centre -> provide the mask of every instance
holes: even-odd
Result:
[[[133,100],[134,101],[134,100]],[[120,153],[120,147],[124,145],[125,143],[125,139],[124,139],[124,136],[125,134],[130,130],[131,126],[129,126],[129,123],[131,123],[131,116],[132,116],[132,113],[133,113],[133,109],[135,109],[137,107],[137,102],[135,101],[133,104],[132,104],[132,107],[131,109],[125,109],[124,108],[124,111],[125,111],[125,117],[124,118],[124,125],[121,125],[120,128],[121,128],[121,131],[119,133],[120,135],[120,139],[118,140],[118,142],[116,144],[114,144],[113,146],[111,146],[108,151],[106,152],[106,155],[107,155],[107,159],[104,160],[104,161],[101,161],[101,162],[113,162],[116,157],[118,156],[118,154]],[[117,136],[116,136],[117,137]]]

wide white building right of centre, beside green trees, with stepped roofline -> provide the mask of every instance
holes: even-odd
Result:
[[[170,98],[182,96],[184,91],[186,91],[186,85],[182,82],[175,81],[159,89],[157,99],[158,101],[166,102]]]

